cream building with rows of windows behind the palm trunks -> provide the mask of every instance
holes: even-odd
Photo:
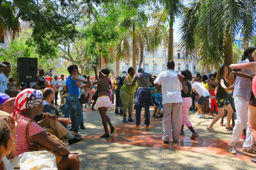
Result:
[[[175,42],[173,46],[173,60],[175,62],[175,71],[180,71],[180,70],[190,70],[191,73],[194,75],[196,74],[198,70],[198,63],[199,60],[191,57],[185,57],[180,48],[178,47],[178,44]],[[145,72],[148,72],[152,75],[157,76],[160,72],[164,71],[167,69],[166,67],[166,62],[167,62],[167,48],[164,49],[164,45],[160,45],[157,49],[155,49],[154,54],[148,53],[147,50],[144,51],[144,62],[142,63],[142,68],[145,70]],[[120,62],[120,72],[123,70],[128,70],[129,67],[132,66],[132,59],[130,60],[124,60]],[[139,68],[139,63],[136,64],[136,72]],[[202,72],[201,72],[202,73]]]

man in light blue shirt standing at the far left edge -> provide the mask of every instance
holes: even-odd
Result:
[[[0,73],[0,92],[4,93],[7,89],[7,81],[8,81],[8,75],[11,72],[11,64],[8,62],[0,62],[0,65],[2,67],[2,71]]]

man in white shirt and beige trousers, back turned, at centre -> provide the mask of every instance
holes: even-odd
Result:
[[[154,84],[158,90],[162,86],[162,106],[164,109],[162,140],[167,144],[171,135],[173,142],[179,141],[180,129],[182,126],[182,97],[181,90],[188,91],[183,79],[174,71],[174,61],[168,61],[168,70],[161,72]]]

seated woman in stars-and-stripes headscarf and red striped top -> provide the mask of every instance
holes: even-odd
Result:
[[[41,115],[43,111],[43,94],[40,90],[25,89],[20,92],[17,95],[14,107],[19,112],[18,119],[24,116],[16,130],[16,156],[32,151],[32,146],[38,143],[62,155],[60,162],[56,162],[58,163],[58,169],[80,168],[77,155],[70,154],[67,147],[50,137],[37,122],[32,121],[36,115]]]

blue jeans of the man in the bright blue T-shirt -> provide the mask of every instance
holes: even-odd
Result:
[[[76,119],[76,123],[74,125],[74,131],[77,133],[78,129],[79,129],[79,125],[82,122],[83,119],[83,112],[82,112],[82,108],[80,105],[80,102],[78,100],[78,98],[76,97],[72,97],[72,96],[67,96],[66,99],[66,105],[65,105],[65,118],[69,118],[70,115],[71,116],[71,121],[73,122],[74,120],[72,120],[75,116],[75,113],[77,115],[77,119]],[[73,118],[72,118],[73,117]]]

